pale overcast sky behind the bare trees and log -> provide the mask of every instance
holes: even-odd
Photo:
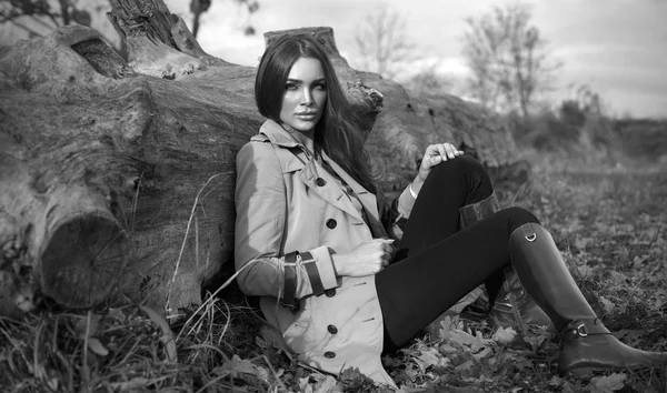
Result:
[[[187,0],[167,0],[188,23]],[[352,67],[354,37],[364,17],[382,3],[405,14],[408,39],[446,74],[464,77],[460,36],[465,19],[500,0],[260,0],[251,17],[255,37],[242,34],[245,10],[213,0],[203,16],[199,42],[225,60],[257,66],[263,33],[309,26],[334,28],[341,54]],[[556,99],[571,85],[589,84],[613,114],[667,118],[667,0],[530,0],[535,26],[564,63]]]

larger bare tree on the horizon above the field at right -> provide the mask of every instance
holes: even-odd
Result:
[[[525,3],[495,7],[468,18],[464,56],[472,71],[471,94],[487,109],[519,112],[524,121],[540,91],[551,88],[561,66],[546,50],[539,30],[530,24]]]

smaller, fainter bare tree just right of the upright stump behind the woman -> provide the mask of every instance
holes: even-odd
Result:
[[[414,58],[408,40],[406,20],[387,6],[365,17],[355,34],[361,69],[386,78],[396,77],[401,63]]]

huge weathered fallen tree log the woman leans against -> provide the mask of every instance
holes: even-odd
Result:
[[[232,258],[233,158],[263,119],[256,69],[206,53],[160,0],[112,0],[129,62],[66,27],[0,50],[0,314],[37,293],[71,308],[106,300],[176,312],[215,290]],[[507,130],[454,97],[411,97],[328,48],[387,192],[424,148],[452,141],[512,164]]]

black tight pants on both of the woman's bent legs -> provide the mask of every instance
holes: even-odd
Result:
[[[525,209],[509,208],[460,229],[459,209],[491,192],[486,170],[468,155],[431,169],[395,260],[376,275],[385,350],[405,345],[476,286],[502,278],[510,234],[539,221]]]

